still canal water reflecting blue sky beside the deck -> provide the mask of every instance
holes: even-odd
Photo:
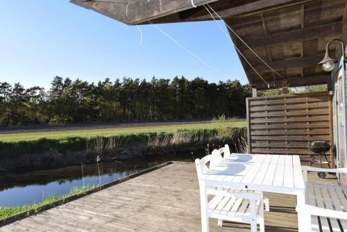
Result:
[[[196,158],[196,157],[195,157]],[[169,160],[193,161],[194,156],[166,156],[131,163],[80,165],[24,174],[0,176],[0,207],[21,206],[42,201],[48,195],[67,194],[75,186],[99,185],[154,167]]]

